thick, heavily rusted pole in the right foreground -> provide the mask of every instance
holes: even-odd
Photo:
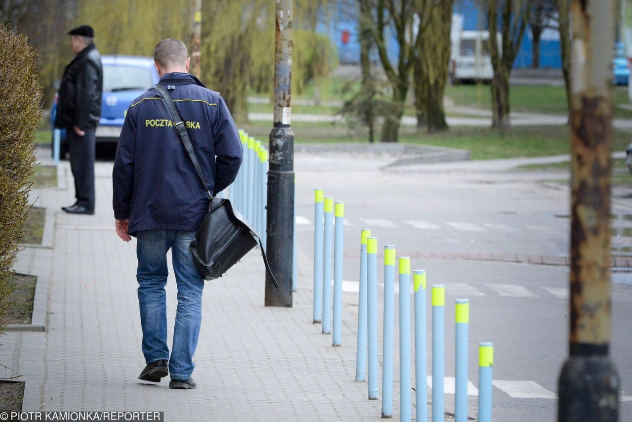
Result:
[[[571,3],[571,318],[560,422],[619,416],[619,376],[609,357],[614,3]]]

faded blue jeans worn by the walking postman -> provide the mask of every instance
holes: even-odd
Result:
[[[193,373],[193,354],[202,323],[204,278],[193,262],[189,244],[195,232],[184,230],[141,230],[136,233],[138,257],[138,303],[143,329],[142,351],[146,363],[169,361],[169,374],[187,380]],[[173,271],[178,285],[178,309],[173,330],[171,357],[167,347],[167,251],[171,248]]]

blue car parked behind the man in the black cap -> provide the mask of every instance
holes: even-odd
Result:
[[[96,131],[97,144],[118,142],[127,108],[133,99],[158,83],[158,71],[154,59],[133,56],[102,56],[103,97],[101,119]],[[58,94],[51,109],[51,127],[54,128]],[[68,142],[66,131],[61,131],[60,158],[66,156]]]

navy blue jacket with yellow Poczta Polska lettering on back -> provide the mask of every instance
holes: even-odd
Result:
[[[241,141],[219,92],[188,73],[167,73],[160,82],[173,98],[210,192],[233,183],[241,165]],[[130,219],[128,232],[197,230],[208,195],[155,89],[131,102],[112,171],[114,218]]]

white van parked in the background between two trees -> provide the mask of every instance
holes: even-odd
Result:
[[[492,80],[489,31],[459,31],[454,34],[451,44],[449,75],[452,84]]]

